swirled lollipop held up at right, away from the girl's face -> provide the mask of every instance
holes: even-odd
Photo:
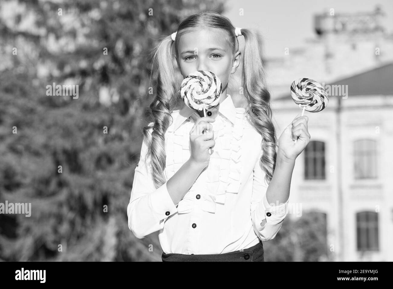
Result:
[[[299,108],[303,108],[301,116],[303,116],[304,110],[309,112],[321,111],[329,102],[325,88],[309,78],[299,78],[292,82],[291,96],[293,101],[299,105]],[[296,141],[297,139],[294,142],[295,144]]]

